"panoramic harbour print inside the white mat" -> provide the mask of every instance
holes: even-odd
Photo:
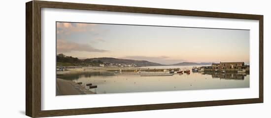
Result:
[[[249,32],[56,22],[56,95],[249,88]]]

